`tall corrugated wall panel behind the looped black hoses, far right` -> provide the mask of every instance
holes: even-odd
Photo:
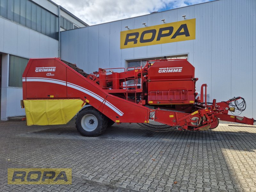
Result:
[[[247,102],[244,116],[252,115],[252,1],[233,0],[231,4],[231,95]],[[239,14],[237,14],[239,12]],[[255,12],[255,10],[254,10]],[[246,18],[246,19],[245,19]],[[244,31],[246,29],[246,32]],[[255,32],[253,33],[255,35]]]

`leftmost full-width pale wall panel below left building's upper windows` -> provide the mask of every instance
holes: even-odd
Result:
[[[17,24],[4,19],[4,52],[17,54]]]

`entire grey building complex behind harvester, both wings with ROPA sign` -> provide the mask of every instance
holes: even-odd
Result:
[[[59,57],[59,52],[87,73],[143,66],[163,57],[187,58],[196,68],[199,93],[206,83],[210,102],[241,96],[247,102],[241,115],[256,118],[255,0],[216,0],[93,26],[48,0],[27,0],[31,12],[25,14],[22,0],[17,1],[18,14],[16,0],[10,1],[14,6],[0,2],[1,120],[25,115],[21,75],[28,58]],[[3,13],[9,6],[13,13]],[[44,19],[31,16],[38,14],[33,7],[39,7],[39,15],[46,12]]]

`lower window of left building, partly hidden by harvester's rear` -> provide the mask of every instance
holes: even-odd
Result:
[[[27,64],[28,64],[28,59],[10,55],[9,87],[22,87],[22,74]]]

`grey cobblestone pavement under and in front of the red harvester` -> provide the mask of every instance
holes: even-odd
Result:
[[[74,120],[1,121],[0,132],[0,191],[256,191],[256,127],[159,133],[115,124],[83,137]],[[7,168],[72,168],[72,185],[7,185]]]

